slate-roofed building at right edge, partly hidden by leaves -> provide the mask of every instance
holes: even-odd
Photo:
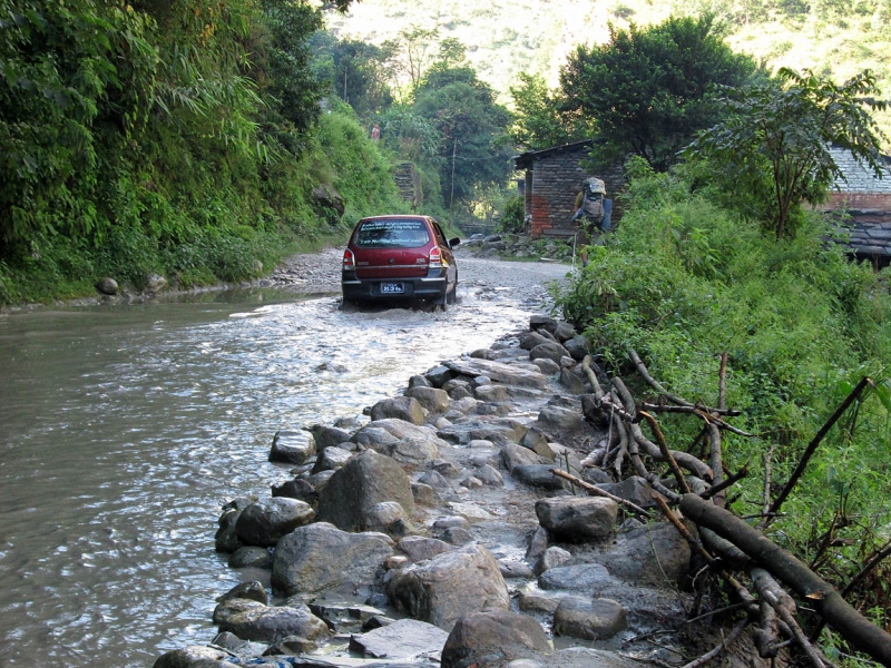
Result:
[[[835,183],[820,210],[838,214],[849,233],[846,245],[860,261],[877,268],[891,264],[891,158],[881,156],[884,176],[860,165],[842,149],[831,149],[844,179]]]

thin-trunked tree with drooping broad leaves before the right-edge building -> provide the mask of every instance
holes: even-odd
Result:
[[[823,202],[843,174],[830,147],[850,151],[881,178],[887,138],[870,110],[884,110],[869,72],[841,86],[805,70],[781,69],[775,81],[725,88],[727,118],[699,132],[685,150],[721,165],[728,184],[746,199],[764,203],[765,226],[780,239],[794,235],[802,204]]]

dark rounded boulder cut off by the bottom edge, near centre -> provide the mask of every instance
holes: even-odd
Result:
[[[509,610],[464,615],[442,648],[442,668],[505,665],[528,656],[529,650],[550,650],[548,637],[533,618]]]

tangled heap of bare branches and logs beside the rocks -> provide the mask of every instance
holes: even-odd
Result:
[[[619,377],[611,379],[608,390],[605,390],[604,385],[607,383],[601,384],[593,369],[591,358],[586,357],[581,366],[594,393],[584,397],[582,410],[588,420],[599,422],[610,432],[608,445],[593,452],[587,463],[619,473],[627,459],[635,473],[649,481],[662,512],[699,557],[703,566],[696,574],[696,581],[702,583],[712,577],[719,578],[726,583],[732,599],[730,608],[721,611],[745,611],[742,620],[719,646],[687,664],[685,668],[702,666],[718,656],[748,625],[756,625],[753,632],[755,647],[765,659],[776,657],[783,648],[797,648],[797,651],[791,654],[804,657],[814,668],[833,666],[815,645],[823,625],[829,625],[854,649],[884,666],[891,666],[891,635],[860,615],[844,598],[882,559],[891,554],[891,546],[877,552],[854,580],[840,592],[807,564],[763,533],[779,517],[783,502],[797,483],[820,442],[872,381],[863,379],[839,406],[811,441],[789,481],[774,498],[771,498],[770,459],[766,459],[763,512],[755,518],[760,523],[752,525],[746,519],[725,509],[727,489],[747,475],[748,471],[744,466],[735,473],[725,473],[722,434],[732,432],[742,436],[753,435],[727,422],[740,412],[725,405],[726,355],[722,357],[718,405],[714,407],[694,404],[673,395],[653,379],[637,353],[631,351],[630,358],[642,377],[658,393],[660,403],[636,403]],[[656,415],[660,413],[685,413],[702,422],[701,436],[709,445],[708,462],[688,452],[668,448],[656,420]],[[653,440],[645,435],[643,423],[648,425]],[[646,461],[667,465],[677,488],[666,487],[664,479],[647,468]],[[570,480],[574,485],[584,488],[591,494],[609,497],[633,514],[649,518],[649,513],[638,505],[608,494],[560,469],[552,469],[552,473]],[[695,525],[695,531],[691,531],[691,523]],[[751,583],[748,587],[753,591],[750,591],[745,582]],[[819,627],[812,629],[810,635],[797,621],[800,606],[795,597],[821,618]]]

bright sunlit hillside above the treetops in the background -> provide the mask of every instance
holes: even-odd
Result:
[[[510,102],[508,89],[520,71],[539,73],[557,85],[566,56],[580,43],[608,40],[608,24],[627,28],[658,23],[672,13],[695,13],[698,7],[716,8],[727,20],[727,42],[772,68],[811,68],[841,82],[870,68],[887,99],[891,100],[891,6],[887,0],[853,0],[844,14],[823,20],[807,12],[783,16],[762,12],[746,17],[741,8],[766,4],[762,0],[362,0],[350,12],[327,17],[339,37],[380,45],[400,31],[418,26],[438,29],[441,38],[459,39],[468,47],[468,60],[479,77]],[[793,1],[785,3],[794,6]],[[806,8],[806,3],[800,3]],[[811,4],[817,4],[812,2]],[[724,8],[724,11],[721,11]],[[734,12],[735,10],[735,12]],[[751,9],[750,9],[751,11]],[[891,112],[878,118],[891,135]],[[890,147],[891,148],[891,147]]]

